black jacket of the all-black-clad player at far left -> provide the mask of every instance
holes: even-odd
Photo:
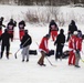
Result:
[[[12,35],[10,35],[8,32],[4,32],[0,37],[0,41],[2,41],[2,45],[10,45],[10,39]]]

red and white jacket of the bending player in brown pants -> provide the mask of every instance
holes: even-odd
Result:
[[[45,53],[48,53],[49,52],[49,49],[48,49],[48,38],[43,38],[42,40],[41,40],[41,43],[40,43],[40,45],[39,45],[39,50],[40,51],[44,51]]]

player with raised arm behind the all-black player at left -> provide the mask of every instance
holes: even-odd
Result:
[[[10,19],[7,29],[8,29],[8,33],[10,33],[11,35],[13,35],[14,33],[14,27],[17,27],[17,22],[13,19]],[[13,40],[13,38],[11,40]]]

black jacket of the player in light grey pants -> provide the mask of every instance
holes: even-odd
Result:
[[[28,46],[28,45],[31,45],[31,43],[32,43],[31,37],[30,37],[28,33],[25,33],[25,34],[23,35],[22,40],[21,40],[21,45],[22,45],[23,48],[25,48],[25,46]]]

